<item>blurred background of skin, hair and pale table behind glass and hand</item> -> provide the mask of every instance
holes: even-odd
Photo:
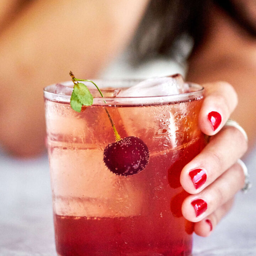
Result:
[[[0,255],[55,255],[43,87],[70,70],[230,82],[256,180],[255,0],[2,0],[0,70]],[[239,193],[214,233],[195,238],[194,255],[256,255],[255,192]]]

